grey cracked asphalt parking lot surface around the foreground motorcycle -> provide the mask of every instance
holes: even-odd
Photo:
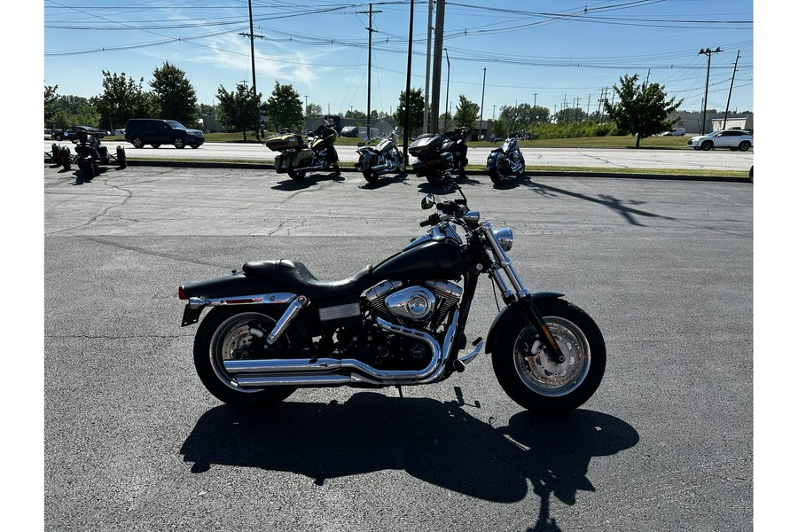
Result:
[[[202,387],[178,285],[258,258],[348,277],[422,231],[416,176],[45,164],[45,528],[752,529],[751,184],[461,186],[514,229],[527,286],[604,332],[604,382],[565,419],[522,411],[486,356],[403,397],[300,390],[260,414]],[[483,280],[469,339],[496,313]]]

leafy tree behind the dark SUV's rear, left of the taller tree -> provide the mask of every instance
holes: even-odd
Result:
[[[103,70],[103,93],[92,98],[92,103],[102,115],[107,129],[123,128],[129,118],[154,118],[160,114],[160,106],[153,94],[142,90],[142,78],[138,83],[125,73],[111,74]]]

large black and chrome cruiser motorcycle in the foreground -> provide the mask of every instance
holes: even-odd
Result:
[[[562,293],[530,292],[507,252],[512,230],[494,229],[461,198],[423,208],[425,234],[352,277],[320,280],[301,262],[246,262],[242,270],[178,289],[182,325],[200,322],[194,364],[224,403],[261,407],[298,387],[432,384],[465,371],[484,347],[513,401],[562,414],[599,387],[606,348],[598,325]],[[487,274],[505,307],[487,340],[465,330],[477,280]],[[497,300],[498,305],[498,300]]]

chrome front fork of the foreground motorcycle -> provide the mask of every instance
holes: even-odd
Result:
[[[510,257],[505,253],[505,250],[502,248],[501,244],[499,244],[493,232],[493,227],[489,222],[485,222],[481,224],[479,231],[481,231],[482,237],[489,242],[490,251],[494,259],[488,274],[502,291],[502,299],[505,301],[505,304],[509,305],[513,301],[520,301],[522,303],[520,309],[528,325],[534,326],[538,331],[543,333],[545,345],[549,353],[552,354],[552,360],[558,363],[565,362],[565,356],[562,350],[560,350],[557,340],[554,339],[543,316],[541,316],[540,311],[537,309],[534,301],[532,301],[532,293],[521,284],[520,278],[515,272],[515,268],[512,267]],[[504,273],[504,276],[502,276],[502,273]],[[510,281],[509,285],[505,277]]]

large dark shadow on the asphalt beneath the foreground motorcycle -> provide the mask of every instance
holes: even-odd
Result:
[[[223,405],[203,414],[180,452],[193,462],[192,473],[211,465],[258,467],[322,485],[395,469],[501,503],[527,497],[529,480],[543,507],[552,494],[574,505],[577,490],[594,490],[586,476],[591,458],[639,440],[629,424],[595,411],[562,419],[523,411],[508,426],[494,427],[463,405],[374,392],[356,393],[346,403],[285,402],[260,412]]]

